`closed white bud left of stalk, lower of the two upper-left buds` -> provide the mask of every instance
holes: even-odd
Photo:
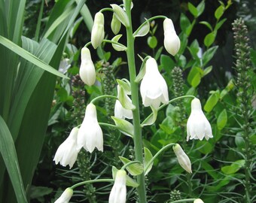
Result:
[[[83,47],[81,50],[81,66],[79,70],[81,80],[89,86],[92,86],[96,80],[96,72],[93,61],[90,56],[90,50]]]

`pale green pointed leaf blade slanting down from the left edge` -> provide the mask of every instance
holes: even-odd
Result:
[[[12,41],[9,41],[7,38],[0,36],[0,44],[4,45],[9,50],[12,50],[14,53],[17,53],[19,56],[23,57],[23,59],[26,59],[29,62],[32,62],[33,64],[37,65],[39,68],[42,68],[45,71],[50,72],[51,74],[55,74],[56,76],[63,77],[63,78],[69,78],[69,77],[66,77],[66,75],[60,73],[59,71],[56,71],[53,67],[43,62],[38,57],[32,55],[32,53],[29,53],[28,51],[24,50],[22,47],[19,47],[17,44],[14,44]]]

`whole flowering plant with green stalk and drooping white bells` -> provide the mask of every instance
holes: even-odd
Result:
[[[179,144],[167,144],[154,156],[152,156],[150,150],[142,145],[142,128],[151,126],[157,119],[157,111],[178,99],[193,98],[191,102],[191,115],[187,122],[187,138],[198,138],[200,140],[203,140],[203,138],[206,138],[206,140],[212,138],[211,126],[201,110],[201,104],[198,98],[195,98],[194,95],[184,95],[169,101],[168,86],[158,71],[157,62],[154,58],[146,56],[145,59],[142,59],[142,68],[139,71],[139,74],[136,74],[134,42],[137,37],[143,37],[148,34],[150,29],[149,23],[151,20],[157,18],[163,19],[164,47],[172,56],[175,56],[178,53],[181,42],[178,35],[176,35],[172,20],[164,16],[152,17],[145,20],[136,32],[133,32],[131,17],[132,8],[132,1],[126,0],[123,1],[123,5],[111,5],[111,8],[103,8],[96,14],[91,42],[87,43],[81,50],[80,68],[81,80],[88,86],[92,86],[96,80],[96,73],[88,47],[92,45],[93,48],[96,49],[102,42],[111,43],[114,50],[126,52],[130,80],[117,80],[117,96],[101,95],[93,98],[90,104],[87,105],[83,123],[81,126],[75,126],[71,135],[67,138],[67,140],[70,140],[69,144],[72,146],[68,146],[67,140],[64,141],[63,144],[59,146],[54,160],[56,163],[59,162],[63,166],[69,165],[72,167],[74,160],[82,147],[90,153],[92,153],[95,148],[104,153],[104,136],[102,135],[101,126],[118,129],[123,135],[129,136],[134,143],[135,160],[132,161],[120,156],[120,160],[123,162],[123,167],[117,169],[113,166],[112,178],[87,180],[81,183],[76,183],[66,189],[56,202],[68,202],[72,196],[73,189],[87,183],[97,182],[114,183],[108,199],[108,202],[110,203],[126,202],[126,186],[136,187],[136,192],[139,196],[138,201],[140,203],[148,202],[145,188],[145,175],[151,171],[154,159],[170,147],[172,147],[181,167],[188,173],[192,173],[190,159]],[[103,12],[105,11],[113,12],[111,29],[116,36],[111,41],[104,39],[105,25]],[[118,42],[119,38],[122,36],[117,35],[120,31],[121,24],[126,28],[126,45]],[[140,119],[139,92],[142,96],[142,105],[150,107],[152,110],[152,113],[144,121]],[[97,120],[95,102],[105,98],[116,100],[114,116],[111,117],[114,120],[115,125],[99,123]],[[163,105],[161,105],[161,103]],[[132,119],[133,123],[125,120],[125,118]],[[74,142],[74,138],[77,138],[76,142]],[[64,150],[64,147],[66,150]],[[69,150],[69,153],[67,153],[67,150]],[[150,159],[145,159],[145,157],[150,157]],[[131,176],[135,176],[136,180],[133,180]],[[177,202],[187,201],[203,202],[198,198],[178,200]]]

